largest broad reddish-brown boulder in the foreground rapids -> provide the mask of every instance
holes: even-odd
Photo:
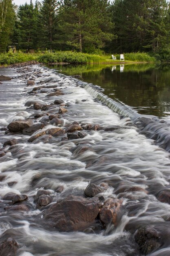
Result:
[[[46,210],[44,220],[59,231],[82,231],[95,223],[101,207],[98,198],[71,195]]]

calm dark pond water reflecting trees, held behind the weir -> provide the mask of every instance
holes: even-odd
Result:
[[[66,75],[79,75],[99,85],[104,94],[140,114],[170,118],[170,65],[58,65]]]

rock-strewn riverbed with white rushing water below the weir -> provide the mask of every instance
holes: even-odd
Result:
[[[168,256],[169,153],[77,79],[0,75],[0,255]]]

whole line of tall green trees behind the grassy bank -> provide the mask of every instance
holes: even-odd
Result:
[[[166,0],[0,0],[0,52],[17,49],[169,54]]]

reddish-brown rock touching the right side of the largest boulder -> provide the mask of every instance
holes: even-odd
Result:
[[[117,225],[117,221],[122,216],[121,212],[122,200],[109,198],[104,202],[99,217],[104,228],[111,223]]]

